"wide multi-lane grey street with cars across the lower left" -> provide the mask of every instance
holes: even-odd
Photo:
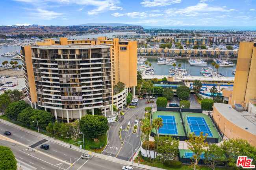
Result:
[[[80,155],[83,152],[78,150],[74,150],[72,148],[68,148],[61,144],[54,143],[52,141],[47,141],[42,137],[38,137],[31,133],[25,132],[23,130],[17,129],[13,126],[9,126],[0,122],[0,132],[3,134],[4,131],[10,131],[12,134],[9,136],[5,136],[9,139],[17,141],[21,144],[9,142],[0,139],[0,144],[3,146],[8,146],[13,151],[15,157],[20,161],[31,165],[37,170],[58,170],[61,166],[62,162],[67,161],[71,163],[72,166],[63,164],[60,169],[63,170],[96,170],[96,169],[104,169],[104,170],[121,170],[121,163],[102,159],[96,156],[92,156],[91,159],[85,160],[80,159]],[[0,136],[1,137],[1,136]],[[2,136],[3,137],[3,136]],[[43,144],[49,144],[50,148],[48,150],[43,150],[40,148],[41,142]],[[24,146],[32,146],[34,150],[28,150],[28,147]],[[40,151],[37,152],[36,150]],[[60,161],[62,160],[62,161]],[[22,164],[21,164],[22,165]],[[141,168],[134,167],[134,170],[141,170]]]

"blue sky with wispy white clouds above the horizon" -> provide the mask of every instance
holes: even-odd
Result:
[[[256,0],[0,0],[0,25],[256,26]]]

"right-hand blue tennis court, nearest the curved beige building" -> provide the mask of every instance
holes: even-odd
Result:
[[[199,136],[200,132],[204,132],[204,135],[207,133],[208,136],[213,136],[211,130],[204,119],[204,117],[187,117],[187,122],[191,133],[194,132],[195,135]]]

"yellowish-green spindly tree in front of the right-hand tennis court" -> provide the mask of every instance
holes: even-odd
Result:
[[[208,146],[207,142],[204,142],[204,140],[207,137],[207,134],[203,136],[204,132],[200,132],[200,135],[195,135],[194,132],[189,133],[188,137],[189,140],[186,140],[187,142],[187,148],[193,152],[193,156],[190,157],[191,159],[191,166],[190,168],[197,170],[199,169],[198,161],[200,161],[200,156],[203,154],[203,152],[206,151],[205,147]]]

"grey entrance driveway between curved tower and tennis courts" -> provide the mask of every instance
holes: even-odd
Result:
[[[137,132],[134,134],[133,128],[135,120],[140,121],[144,117],[145,107],[151,107],[151,104],[146,104],[147,99],[139,99],[136,108],[126,108],[124,110],[124,116],[118,121],[109,124],[108,131],[108,145],[102,154],[113,156],[119,159],[123,159],[126,161],[131,161],[132,156],[139,149],[141,144],[141,129],[138,128]],[[154,99],[156,101],[156,99]],[[156,107],[156,104],[153,103]],[[128,122],[130,121],[130,126],[128,128],[128,132],[126,132],[126,128],[128,126]],[[125,141],[123,145],[121,145],[121,140],[119,138],[119,129],[122,126],[121,136],[122,140]],[[138,127],[139,127],[138,126]],[[130,144],[129,144],[130,143]]]

